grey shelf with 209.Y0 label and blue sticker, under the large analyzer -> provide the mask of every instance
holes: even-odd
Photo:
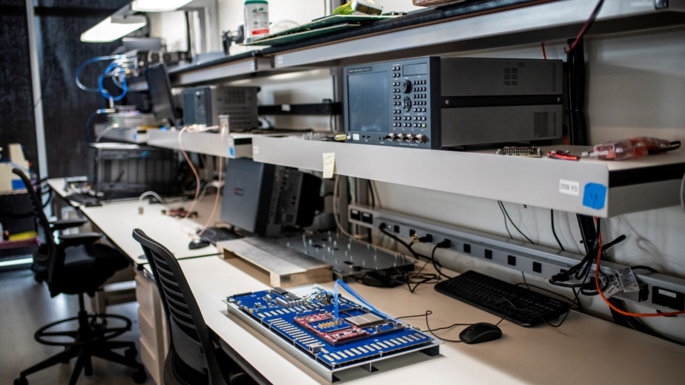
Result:
[[[323,171],[323,154],[335,153],[335,173],[340,175],[598,217],[679,205],[685,173],[685,150],[619,162],[573,162],[494,155],[494,150],[390,148],[307,140],[303,136],[255,137],[253,158]],[[573,153],[586,149],[564,145],[542,149],[546,152],[564,148]],[[576,193],[561,193],[562,181],[577,186]],[[607,188],[606,199],[601,186]],[[590,199],[594,192],[599,194],[598,201],[584,204],[584,197]],[[593,202],[599,202],[597,209],[591,207]]]

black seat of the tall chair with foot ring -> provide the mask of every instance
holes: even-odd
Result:
[[[128,266],[120,252],[99,243],[67,247],[65,253],[59,285],[64,294],[93,293]]]

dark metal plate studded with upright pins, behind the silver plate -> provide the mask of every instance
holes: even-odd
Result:
[[[414,270],[413,260],[352,240],[337,232],[303,235],[279,242],[317,260],[330,263],[333,265],[333,274],[340,277],[350,277],[369,270]]]

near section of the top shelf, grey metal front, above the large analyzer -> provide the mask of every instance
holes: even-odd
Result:
[[[656,4],[664,1],[657,0]],[[345,66],[569,39],[578,34],[596,5],[597,0],[562,0],[480,16],[466,15],[463,19],[275,53],[273,66]],[[682,25],[683,11],[683,0],[671,0],[663,9],[655,9],[653,1],[607,0],[587,36]],[[267,55],[268,50],[263,54]]]

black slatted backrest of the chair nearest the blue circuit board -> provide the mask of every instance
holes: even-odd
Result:
[[[166,247],[141,229],[133,230],[133,239],[141,244],[150,262],[171,332],[173,350],[188,366],[208,373],[209,384],[225,385],[208,327],[178,261]]]

